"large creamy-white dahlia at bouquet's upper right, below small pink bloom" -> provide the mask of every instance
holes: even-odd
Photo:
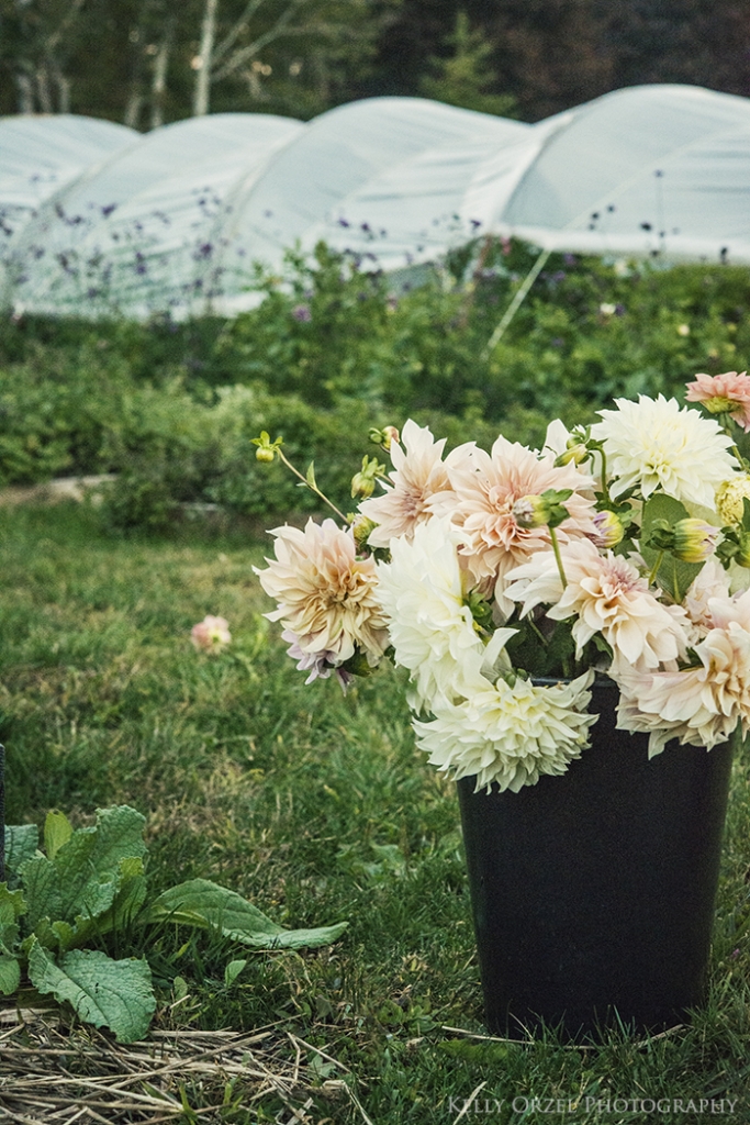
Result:
[[[715,489],[738,470],[728,452],[732,440],[719,423],[663,395],[616,403],[616,411],[599,411],[604,421],[591,426],[615,478],[612,495],[638,487],[648,498],[661,488],[676,500],[712,508]]]

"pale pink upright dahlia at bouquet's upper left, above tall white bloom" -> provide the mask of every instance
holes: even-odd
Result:
[[[426,426],[408,420],[400,444],[397,441],[390,444],[392,484],[385,485],[385,496],[373,496],[360,504],[362,515],[378,524],[370,532],[370,546],[388,547],[391,539],[410,538],[421,523],[432,518],[431,497],[451,487],[442,460],[444,448],[444,438],[435,441]]]

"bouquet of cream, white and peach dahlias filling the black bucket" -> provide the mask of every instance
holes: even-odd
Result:
[[[444,453],[408,421],[370,436],[355,513],[284,525],[257,570],[308,682],[407,669],[417,744],[477,789],[518,791],[586,748],[595,676],[617,724],[711,749],[750,729],[750,378],[687,399],[617,399],[541,450],[498,436]],[[255,440],[283,460],[281,439]],[[323,500],[313,467],[301,477]],[[379,494],[376,495],[376,489]]]

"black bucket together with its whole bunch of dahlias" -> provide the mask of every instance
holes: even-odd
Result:
[[[687,402],[617,399],[541,450],[372,431],[391,467],[364,458],[358,510],[274,529],[256,572],[308,682],[407,669],[458,782],[493,1030],[654,1029],[705,996],[750,728],[750,378]]]

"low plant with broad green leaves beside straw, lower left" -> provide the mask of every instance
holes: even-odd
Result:
[[[241,894],[207,879],[150,898],[144,825],[135,809],[117,806],[99,810],[94,826],[79,829],[52,811],[42,842],[35,825],[6,828],[0,993],[13,994],[27,975],[43,996],[71,1005],[82,1020],[109,1028],[120,1043],[132,1043],[145,1035],[156,1008],[151,969],[143,957],[116,961],[91,948],[108,934],[136,935],[173,921],[216,930],[254,950],[298,950],[335,942],[346,928],[340,922],[284,929]]]

